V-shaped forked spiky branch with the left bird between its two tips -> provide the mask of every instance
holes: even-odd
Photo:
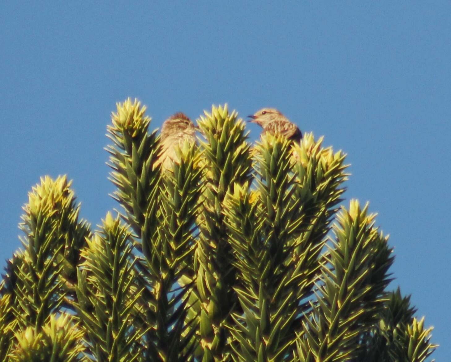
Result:
[[[143,358],[187,361],[196,331],[194,317],[186,319],[194,283],[181,279],[185,273],[193,274],[195,219],[202,191],[200,154],[195,145],[185,143],[178,150],[179,163],[162,174],[155,165],[160,140],[156,132],[147,134],[151,119],[144,116],[145,109],[127,100],[113,113],[108,136],[114,146],[107,148],[111,181],[117,186],[113,197],[136,234],[134,264],[143,287],[137,300],[143,313],[137,322],[146,330]]]

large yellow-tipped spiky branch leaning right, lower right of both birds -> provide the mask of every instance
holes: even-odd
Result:
[[[318,304],[310,301],[312,311],[303,320],[300,361],[352,359],[360,335],[377,323],[393,257],[367,209],[353,200],[334,225],[317,281]]]

